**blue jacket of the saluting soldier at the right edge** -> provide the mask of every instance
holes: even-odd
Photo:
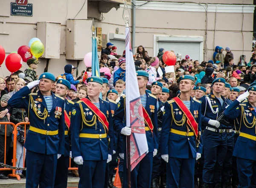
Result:
[[[241,109],[244,108],[244,117],[246,120],[241,120]],[[253,122],[253,118],[256,117],[256,111],[250,105],[250,103],[246,100],[246,102],[239,103],[238,100],[235,100],[232,104],[230,104],[227,109],[225,110],[225,115],[230,119],[236,119],[238,117],[239,123],[241,120],[241,133],[249,134],[256,137],[255,134],[255,126],[252,127],[249,123]],[[246,125],[244,124],[246,123]],[[251,127],[251,128],[249,128]],[[240,134],[241,134],[240,133]],[[240,157],[247,160],[256,160],[256,142],[255,140],[250,140],[245,137],[239,136],[236,145],[233,151],[233,156]]]

